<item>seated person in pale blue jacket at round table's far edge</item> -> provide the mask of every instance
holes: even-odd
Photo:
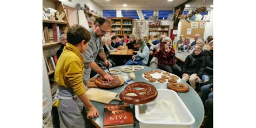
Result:
[[[149,48],[142,38],[137,39],[135,45],[139,48],[136,55],[132,56],[132,59],[128,60],[125,65],[143,65],[146,66],[147,62],[149,62]]]

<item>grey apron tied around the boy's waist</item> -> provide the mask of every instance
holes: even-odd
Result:
[[[85,127],[84,104],[71,87],[58,87],[53,103],[58,107],[60,127]]]

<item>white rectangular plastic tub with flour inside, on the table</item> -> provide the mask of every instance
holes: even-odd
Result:
[[[135,117],[139,120],[139,127],[145,128],[163,128],[163,127],[177,127],[177,128],[185,128],[190,127],[190,125],[194,124],[195,119],[192,116],[191,112],[187,109],[186,105],[177,95],[177,93],[173,90],[169,89],[157,89],[158,96],[156,100],[147,104],[135,105]],[[172,114],[161,113],[161,114],[151,114],[151,119],[144,119],[147,116],[140,117],[140,114],[145,114],[145,112],[149,112],[150,110],[156,109],[156,102],[167,100],[167,102],[171,102],[175,109],[176,115],[179,118],[180,122],[175,122],[173,120],[166,119],[166,116]],[[167,105],[168,106],[168,105]],[[173,109],[170,109],[173,110]],[[156,116],[156,119],[153,119],[152,116]]]

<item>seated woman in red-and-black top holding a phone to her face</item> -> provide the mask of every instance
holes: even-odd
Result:
[[[175,51],[172,48],[170,37],[165,37],[161,42],[164,42],[164,47],[161,48],[161,43],[158,49],[153,53],[153,57],[158,58],[158,68],[181,77],[181,69],[175,61]]]

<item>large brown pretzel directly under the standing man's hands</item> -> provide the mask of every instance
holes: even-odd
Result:
[[[94,83],[98,86],[98,87],[103,87],[103,88],[114,88],[120,85],[120,80],[118,78],[118,76],[112,76],[114,78],[114,81],[112,82],[108,82],[103,76],[97,76],[97,78],[95,79]]]

